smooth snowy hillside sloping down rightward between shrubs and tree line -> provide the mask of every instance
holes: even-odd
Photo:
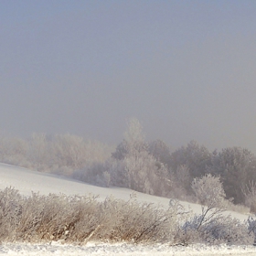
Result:
[[[48,195],[49,193],[63,193],[66,195],[95,195],[100,199],[113,196],[116,198],[128,200],[134,192],[131,189],[123,187],[97,187],[63,176],[55,176],[46,173],[31,171],[26,168],[14,165],[0,164],[0,189],[5,187],[15,187],[23,195],[31,195],[31,191]],[[169,198],[155,197],[144,193],[135,192],[136,198],[142,202],[160,204],[168,207]],[[200,205],[181,202],[185,208],[191,208],[195,213],[200,213]],[[237,212],[227,212],[232,217],[244,220],[248,216]]]

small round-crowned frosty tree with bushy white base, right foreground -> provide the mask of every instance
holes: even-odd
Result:
[[[202,212],[183,224],[180,240],[184,243],[203,241],[210,244],[252,244],[254,238],[247,225],[223,215],[226,200],[219,177],[206,175],[195,178],[192,189],[202,205]]]

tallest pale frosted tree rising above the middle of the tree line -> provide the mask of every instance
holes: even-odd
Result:
[[[123,143],[119,144],[112,157],[122,161],[120,169],[112,170],[112,180],[115,185],[117,173],[123,176],[126,187],[154,195],[166,195],[170,189],[170,179],[165,165],[157,165],[154,155],[148,152],[148,145],[144,142],[144,133],[141,123],[132,118]],[[121,173],[122,172],[122,173]]]

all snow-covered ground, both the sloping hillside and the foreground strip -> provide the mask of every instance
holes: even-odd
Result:
[[[98,195],[100,198],[113,196],[128,200],[132,190],[119,187],[95,187],[71,180],[61,176],[53,176],[37,173],[25,168],[0,164],[0,188],[15,187],[23,195],[30,195],[31,191],[48,195],[49,193],[64,193],[66,195]],[[169,199],[153,197],[136,192],[139,201],[154,202],[163,207],[168,206]],[[200,206],[182,202],[184,207],[191,208],[194,212],[200,211]],[[240,220],[248,216],[235,212],[229,212]],[[3,243],[0,246],[0,255],[256,255],[256,247],[253,246],[213,246],[193,245],[188,247],[169,247],[168,245],[129,245],[129,244],[92,244],[86,246],[51,244],[11,244]]]

